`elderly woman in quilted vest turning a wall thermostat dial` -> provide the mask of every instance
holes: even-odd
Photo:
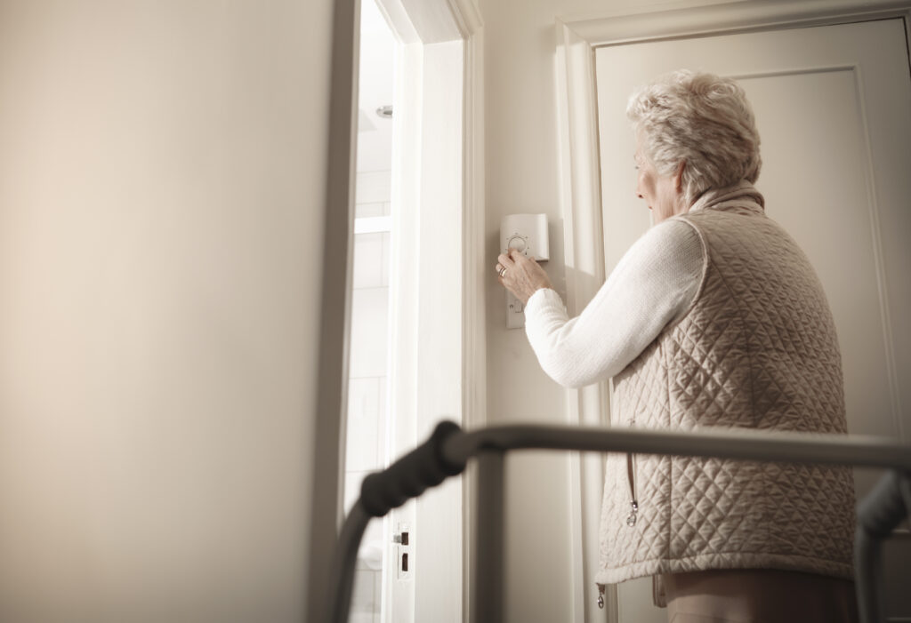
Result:
[[[731,79],[680,71],[630,98],[654,226],[569,318],[534,260],[499,256],[558,383],[613,378],[615,425],[846,431],[823,288],[763,211],[759,135]],[[856,619],[846,468],[609,455],[600,585],[651,576],[670,621]]]

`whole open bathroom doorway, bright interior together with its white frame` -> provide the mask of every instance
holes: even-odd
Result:
[[[483,421],[486,401],[479,14],[362,0],[360,15],[345,510],[366,474],[442,419]],[[464,619],[466,490],[447,482],[374,520],[350,620]]]

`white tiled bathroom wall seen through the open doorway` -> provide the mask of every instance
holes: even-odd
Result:
[[[355,219],[390,215],[390,179],[390,171],[357,174]],[[389,231],[354,235],[346,512],[357,499],[363,477],[384,463],[389,237]],[[384,547],[382,519],[374,519],[364,534],[354,572],[352,623],[380,623]]]

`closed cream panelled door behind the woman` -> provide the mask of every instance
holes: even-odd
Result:
[[[911,77],[900,19],[596,50],[608,271],[650,226],[635,198],[626,121],[636,85],[679,68],[741,81],[762,136],[766,211],[810,256],[832,306],[852,433],[911,440]],[[858,497],[879,474],[857,473]],[[888,545],[887,614],[902,594],[907,540]],[[903,551],[904,549],[904,551]],[[650,580],[619,587],[620,621],[666,621]],[[902,619],[907,620],[907,619]]]

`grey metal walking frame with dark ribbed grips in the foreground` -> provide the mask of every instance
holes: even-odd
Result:
[[[858,505],[855,576],[863,623],[882,620],[880,542],[911,514],[911,447],[882,437],[784,433],[752,429],[668,432],[632,428],[501,426],[463,431],[441,422],[419,447],[383,471],[364,478],[361,497],[345,519],[333,558],[333,598],[326,621],[346,623],[354,565],[371,517],[420,496],[478,459],[478,535],[473,623],[500,623],[503,615],[503,455],[508,450],[556,449],[590,452],[716,457],[889,469]]]

